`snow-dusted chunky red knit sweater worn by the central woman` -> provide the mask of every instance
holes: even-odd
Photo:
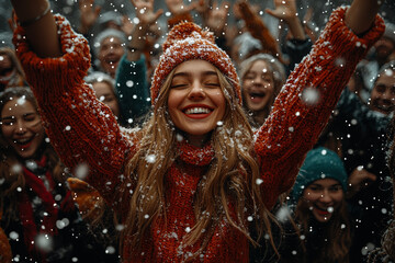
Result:
[[[321,133],[356,65],[384,31],[384,22],[377,16],[373,28],[359,38],[345,25],[345,8],[334,12],[321,37],[290,76],[271,115],[256,134],[255,150],[261,165],[263,199],[269,208],[279,194],[292,187],[305,153]],[[126,215],[128,206],[122,204],[127,204],[131,196],[122,196],[121,202],[116,190],[123,164],[129,157],[126,152],[133,152],[135,145],[122,133],[111,111],[83,84],[90,66],[86,39],[72,32],[63,18],[58,16],[57,23],[63,57],[38,58],[21,37],[22,27],[14,36],[18,56],[37,98],[47,134],[63,161],[72,170],[88,163],[87,181]],[[314,95],[319,99],[303,102]],[[181,160],[190,164],[182,170],[176,165],[169,169],[167,220],[158,218],[154,222],[139,253],[133,253],[125,242],[125,262],[182,262],[188,256],[188,249],[180,250],[179,244],[195,222],[193,193],[211,161],[207,147],[183,145],[179,149],[183,152]],[[247,239],[226,222],[219,226],[196,262],[248,262]],[[189,249],[195,251],[196,245]]]

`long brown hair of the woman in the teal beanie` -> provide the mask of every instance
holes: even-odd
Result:
[[[309,222],[314,220],[309,205],[301,197],[295,208],[294,222],[300,226],[296,232],[304,235],[307,239],[309,236]],[[335,209],[331,218],[325,226],[321,240],[327,239],[329,242],[325,243],[326,245],[319,250],[320,254],[312,263],[348,263],[351,248],[351,229],[346,198],[341,201],[340,206]],[[311,240],[311,242],[319,243],[319,240]],[[305,250],[305,245],[303,248]]]

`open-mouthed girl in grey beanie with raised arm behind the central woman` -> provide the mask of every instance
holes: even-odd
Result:
[[[290,52],[290,55],[293,55],[291,56],[291,64],[286,67],[269,54],[253,55],[240,64],[239,76],[241,79],[244,106],[255,128],[260,127],[268,117],[274,99],[285,82],[287,76],[285,70],[289,70],[291,65],[293,68],[311,50],[311,45],[306,46],[306,43],[308,44],[309,42],[297,18],[295,1],[274,1],[274,10],[267,9],[266,11],[274,18],[285,21],[290,26],[290,32],[295,43],[292,44],[294,49]],[[250,25],[249,27],[253,26]],[[298,45],[298,43],[303,44]]]

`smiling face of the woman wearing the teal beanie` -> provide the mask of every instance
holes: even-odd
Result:
[[[326,222],[336,211],[342,199],[341,184],[334,179],[320,179],[314,181],[303,191],[303,199],[307,203],[314,218]]]

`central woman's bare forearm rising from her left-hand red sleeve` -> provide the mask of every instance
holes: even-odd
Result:
[[[33,52],[40,57],[61,55],[55,19],[47,0],[11,0]]]

